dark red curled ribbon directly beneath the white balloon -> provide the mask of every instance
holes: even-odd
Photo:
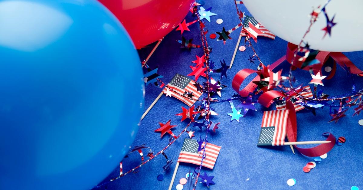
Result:
[[[280,59],[278,59],[273,64],[271,64],[270,65],[270,70],[273,70],[274,68],[276,68],[278,65],[280,65],[285,60],[291,64],[291,62],[292,62],[292,60],[294,58],[294,52],[296,50],[297,50],[297,45],[288,43],[287,44],[287,49],[286,49],[286,55],[282,56]],[[333,68],[332,68],[329,76],[327,76],[325,79],[330,79],[330,78],[332,78],[334,76],[335,70],[337,68],[337,63],[342,68],[344,68],[345,66],[349,67],[350,72],[352,74],[358,74],[359,76],[363,76],[363,71],[360,70],[358,67],[356,67],[354,65],[354,63],[352,61],[350,61],[349,58],[347,56],[345,56],[343,53],[341,53],[341,52],[324,52],[324,51],[320,51],[317,54],[317,56],[315,57],[317,60],[320,61],[320,63],[315,64],[315,65],[312,66],[312,69],[314,70],[314,74],[317,74],[319,71],[322,70],[322,67],[327,62],[329,57],[333,58],[333,60],[334,60]],[[299,58],[301,58],[301,56],[296,55],[295,60],[293,62],[293,66],[295,66],[297,68],[301,68],[301,66],[303,64],[302,61],[299,61]],[[309,70],[309,67],[305,67],[305,68],[302,68],[302,69]]]

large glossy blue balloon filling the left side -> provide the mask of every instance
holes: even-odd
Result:
[[[95,0],[0,0],[0,189],[89,189],[142,112],[139,57]]]

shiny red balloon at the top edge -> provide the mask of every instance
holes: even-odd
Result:
[[[99,0],[121,21],[136,48],[171,32],[187,15],[194,0]]]

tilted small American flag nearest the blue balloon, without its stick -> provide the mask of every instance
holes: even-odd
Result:
[[[190,78],[181,74],[175,74],[175,76],[172,78],[169,84],[167,84],[167,86],[179,93],[177,94],[168,89],[169,91],[171,91],[171,96],[178,98],[178,100],[184,102],[189,107],[191,107],[196,102],[196,100],[198,100],[198,98],[203,94],[202,92],[197,90],[194,84],[196,84],[196,82],[191,80]],[[168,90],[167,87],[165,87],[163,89],[163,93],[166,94]],[[186,92],[193,93],[193,96],[191,97],[193,98],[193,100],[180,95],[185,94]]]

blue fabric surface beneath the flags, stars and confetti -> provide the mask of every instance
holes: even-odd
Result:
[[[226,30],[233,28],[238,24],[239,20],[236,15],[236,9],[233,1],[207,1],[204,8],[212,7],[213,13],[217,16],[211,17],[211,22],[206,22],[209,29],[209,34],[220,32],[223,26]],[[250,15],[244,5],[238,5],[242,12],[246,11],[246,15]],[[308,13],[307,13],[308,14]],[[223,24],[216,24],[217,19],[223,19]],[[191,13],[188,13],[187,22],[195,20]],[[308,18],[306,20],[308,22]],[[339,23],[338,23],[339,24]],[[183,36],[186,39],[193,38],[194,44],[201,45],[199,39],[199,25],[193,24],[189,27],[190,32],[184,32]],[[333,28],[334,30],[334,28]],[[229,65],[231,61],[234,47],[236,45],[239,29],[231,34],[233,40],[227,40],[226,45],[222,41],[210,39],[208,44],[213,48],[211,53],[212,61],[215,62],[216,68],[219,68],[219,60],[224,60]],[[322,32],[323,35],[323,32]],[[337,34],[333,34],[337,35]],[[148,65],[154,69],[159,67],[158,73],[164,76],[162,81],[167,83],[175,75],[176,72],[187,75],[191,72],[189,65],[195,65],[191,61],[195,60],[195,55],[203,54],[201,48],[180,49],[180,44],[176,40],[180,40],[180,31],[172,31],[165,37],[154,55],[148,61]],[[243,40],[242,40],[243,41]],[[265,37],[258,37],[258,43],[252,42],[258,55],[261,57],[265,65],[272,64],[278,58],[285,55],[287,42],[276,38],[271,40]],[[243,42],[241,42],[241,45]],[[339,44],[337,44],[339,45]],[[142,49],[140,58],[143,60],[152,49]],[[222,84],[228,85],[228,88],[222,90],[222,98],[231,97],[235,92],[231,87],[233,76],[243,68],[256,69],[255,64],[249,63],[248,56],[252,56],[253,52],[247,48],[244,52],[237,52],[236,59],[231,70],[227,71],[228,78],[221,80]],[[362,52],[344,53],[352,62],[359,68],[363,68],[361,60]],[[285,61],[281,68],[286,71],[289,64]],[[299,82],[307,84],[310,80],[310,74],[307,71],[296,70],[294,76]],[[220,78],[219,73],[212,73],[211,76],[215,79]],[[193,78],[193,77],[192,77]],[[194,78],[193,78],[194,79]],[[362,89],[362,78],[355,77],[357,89]],[[205,81],[204,78],[199,79],[199,82]],[[324,81],[324,92],[333,96],[343,93],[348,93],[351,90],[351,81],[346,76],[346,72],[338,67],[337,73],[331,80]],[[144,110],[151,105],[152,101],[158,96],[162,89],[156,86],[146,86],[146,97]],[[234,101],[237,106],[239,101]],[[158,152],[168,144],[168,134],[160,138],[160,133],[155,133],[154,130],[159,128],[158,122],[167,122],[171,119],[171,124],[178,125],[172,131],[174,134],[179,134],[187,125],[187,121],[180,122],[180,116],[175,114],[181,112],[181,106],[185,106],[181,101],[175,98],[162,96],[156,103],[154,108],[147,114],[141,122],[140,130],[136,136],[133,146],[147,143],[153,151]],[[213,103],[211,105],[218,116],[212,116],[213,123],[221,122],[220,128],[216,134],[208,134],[208,141],[222,146],[216,165],[213,170],[202,168],[202,172],[207,172],[208,175],[214,175],[213,181],[216,185],[211,185],[210,189],[350,189],[355,185],[363,188],[363,173],[362,173],[362,149],[363,143],[361,140],[363,128],[358,124],[360,116],[351,117],[353,109],[351,108],[346,113],[346,117],[341,118],[337,124],[334,122],[327,123],[331,117],[329,116],[329,108],[317,109],[317,115],[314,116],[308,110],[302,110],[297,113],[298,124],[298,140],[313,141],[325,140],[321,136],[324,132],[331,132],[335,137],[344,136],[347,141],[342,146],[334,146],[328,153],[328,157],[310,171],[304,173],[303,166],[310,160],[307,157],[299,154],[293,155],[289,146],[259,148],[257,147],[257,139],[260,134],[262,113],[264,110],[261,105],[257,104],[256,112],[249,110],[246,117],[240,118],[240,122],[230,122],[231,117],[227,113],[231,113],[231,106],[228,101]],[[274,108],[273,108],[274,109]],[[193,128],[195,135],[202,138],[205,135],[205,130],[200,131],[199,128]],[[99,189],[167,189],[174,171],[176,160],[178,159],[183,139],[187,134],[183,134],[174,144],[172,144],[165,153],[170,159],[173,159],[170,170],[164,173],[163,181],[158,181],[156,178],[163,173],[163,168],[166,164],[165,158],[160,155],[151,162],[136,170],[137,173],[131,173],[116,181],[108,183]],[[307,147],[307,146],[306,146]],[[146,155],[147,150],[144,150]],[[129,158],[123,160],[123,171],[132,169],[140,164],[140,155],[138,153],[131,154]],[[178,173],[175,178],[173,189],[179,183],[179,179],[185,177],[189,170],[194,170],[196,165],[188,163],[180,163]],[[115,170],[105,181],[118,176],[119,168],[115,166]],[[246,181],[247,178],[250,180]],[[295,178],[297,183],[293,187],[286,184],[287,179]],[[187,187],[184,187],[187,189]],[[197,189],[207,189],[204,184],[198,183]]]

